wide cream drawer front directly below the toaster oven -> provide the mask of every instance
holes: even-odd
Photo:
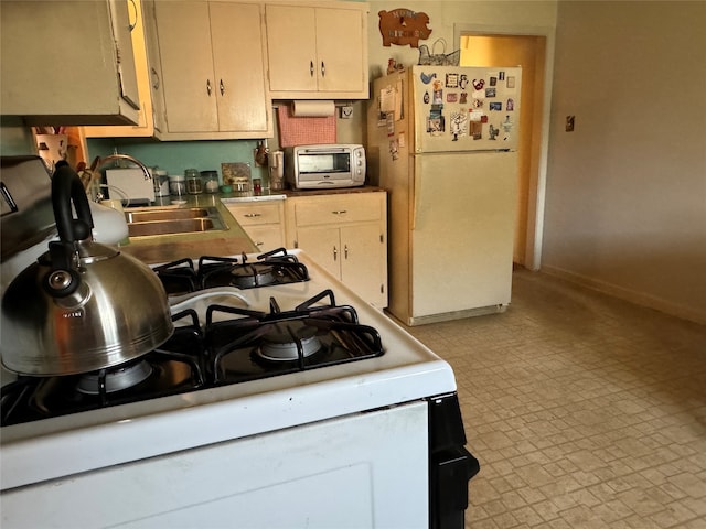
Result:
[[[295,204],[297,226],[315,226],[379,220],[377,194],[351,194],[307,199]]]

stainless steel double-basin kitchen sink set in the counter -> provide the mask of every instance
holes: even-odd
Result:
[[[146,208],[125,213],[130,237],[197,234],[225,229],[215,207]]]

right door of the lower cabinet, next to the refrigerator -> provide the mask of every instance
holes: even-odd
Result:
[[[384,245],[377,224],[341,228],[341,281],[375,306],[385,305]]]

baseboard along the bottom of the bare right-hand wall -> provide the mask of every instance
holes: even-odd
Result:
[[[570,272],[561,268],[548,267],[545,264],[542,266],[542,269],[539,271],[546,273],[547,276],[554,276],[556,278],[565,279],[573,283],[580,284],[598,292],[602,292],[603,294],[629,301],[630,303],[634,303],[635,305],[646,306],[649,309],[654,309],[655,311],[664,312],[665,314],[670,314],[682,320],[688,320],[689,322],[706,325],[706,312],[704,311],[698,311],[676,303],[672,303],[670,301],[645,294],[644,292],[635,292],[623,287],[618,287],[617,284],[612,284],[595,278],[589,278],[580,273]]]

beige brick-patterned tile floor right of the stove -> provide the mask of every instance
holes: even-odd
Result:
[[[467,528],[706,528],[706,326],[517,270],[504,314],[409,331],[456,371]]]

